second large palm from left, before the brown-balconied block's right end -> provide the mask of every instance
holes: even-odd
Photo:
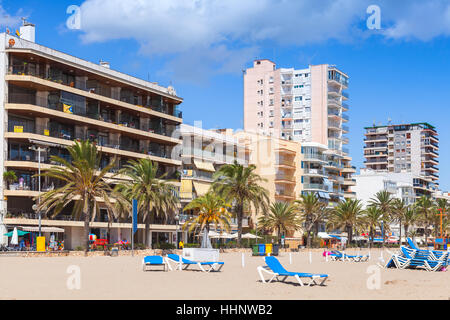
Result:
[[[166,174],[158,177],[158,163],[150,159],[130,160],[119,171],[129,178],[129,181],[118,184],[116,190],[131,202],[136,199],[138,212],[145,223],[144,242],[149,244],[150,224],[155,216],[168,218],[177,210],[178,198],[176,188],[163,179]]]

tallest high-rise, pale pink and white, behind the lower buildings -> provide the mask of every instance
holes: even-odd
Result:
[[[244,130],[347,154],[347,88],[348,76],[332,65],[296,70],[255,60],[244,75]]]

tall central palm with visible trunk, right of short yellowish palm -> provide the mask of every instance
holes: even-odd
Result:
[[[224,165],[214,174],[212,189],[234,206],[238,221],[237,245],[241,244],[244,209],[253,207],[255,214],[265,212],[269,204],[269,192],[260,186],[266,180],[255,173],[256,166],[244,167],[237,161]]]

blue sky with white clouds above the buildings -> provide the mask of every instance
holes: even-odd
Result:
[[[42,45],[172,84],[186,123],[242,128],[242,69],[335,64],[350,76],[350,154],[363,166],[364,127],[428,122],[439,131],[441,188],[450,189],[450,3],[366,0],[0,1],[0,27],[37,26]],[[381,30],[368,30],[368,5]],[[66,9],[81,7],[81,29]]]

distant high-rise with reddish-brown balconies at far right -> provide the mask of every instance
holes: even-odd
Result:
[[[416,197],[431,196],[438,188],[439,139],[428,123],[365,128],[365,168],[409,176]]]

